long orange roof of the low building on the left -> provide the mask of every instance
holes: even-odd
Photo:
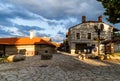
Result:
[[[23,38],[0,38],[0,44],[6,45],[29,45],[29,44],[46,44],[55,46],[50,41],[46,41],[40,37],[34,37],[30,39],[29,37]]]

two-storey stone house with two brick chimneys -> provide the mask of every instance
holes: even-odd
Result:
[[[104,23],[102,16],[99,16],[97,21],[86,21],[86,17],[82,16],[82,23],[69,28],[67,35],[69,51],[71,54],[104,53],[102,41],[111,40],[112,34],[117,31],[117,28]]]

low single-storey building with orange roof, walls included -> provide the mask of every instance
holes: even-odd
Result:
[[[56,53],[56,46],[50,38],[0,38],[0,52],[5,55],[34,56],[43,53]]]

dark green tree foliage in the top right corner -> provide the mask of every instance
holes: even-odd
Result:
[[[104,15],[110,23],[120,23],[120,0],[97,0],[105,8]]]

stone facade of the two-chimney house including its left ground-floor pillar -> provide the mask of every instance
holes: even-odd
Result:
[[[96,32],[94,26],[98,26],[100,24],[104,25],[103,31],[100,33],[100,38],[103,40],[111,40],[111,34],[113,31],[113,28],[105,23],[82,23],[79,25],[76,25],[75,27],[72,27],[69,29],[69,35],[68,35],[68,43],[70,46],[71,54],[74,54],[74,51],[76,50],[75,45],[76,44],[87,44],[87,46],[98,46],[98,33]],[[79,35],[77,35],[79,33]],[[91,34],[90,39],[88,39],[88,33]],[[77,37],[79,36],[79,37]],[[74,44],[74,46],[73,46]],[[101,48],[100,50],[102,50]]]

